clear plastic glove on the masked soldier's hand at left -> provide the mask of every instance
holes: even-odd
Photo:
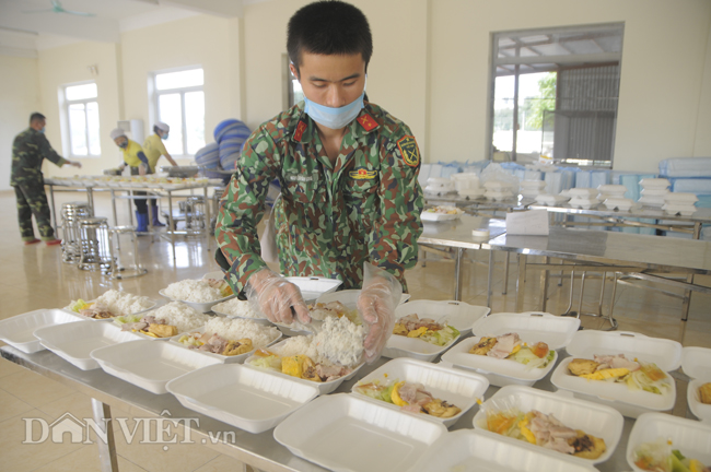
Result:
[[[299,287],[271,270],[261,269],[249,278],[245,286],[247,299],[269,321],[291,324],[311,322],[308,308]]]

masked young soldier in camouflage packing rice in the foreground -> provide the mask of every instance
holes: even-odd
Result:
[[[278,178],[280,272],[362,287],[363,347],[373,362],[392,334],[404,272],[417,263],[419,150],[407,125],[364,101],[373,40],[359,9],[341,1],[303,7],[289,21],[287,50],[305,101],[245,142],[223,194],[215,257],[233,291],[244,290],[270,320],[311,321],[299,288],[260,256],[257,223]]]

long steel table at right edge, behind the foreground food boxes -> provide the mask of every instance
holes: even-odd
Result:
[[[516,311],[523,311],[526,270],[540,269],[623,273],[639,280],[683,288],[683,320],[689,308],[689,294],[711,293],[711,288],[693,283],[696,274],[711,273],[711,243],[679,238],[551,227],[548,236],[514,236],[504,234],[482,245],[482,249],[517,255]],[[545,263],[528,263],[528,256],[543,256]],[[548,258],[574,261],[574,264],[550,264]],[[669,278],[685,274],[686,281]],[[545,290],[547,282],[544,281]],[[616,283],[614,288],[616,287]],[[545,297],[543,297],[545,299]],[[614,300],[614,296],[613,296]],[[610,304],[611,305],[611,304]],[[611,314],[611,306],[610,306]],[[611,316],[611,315],[610,315]]]

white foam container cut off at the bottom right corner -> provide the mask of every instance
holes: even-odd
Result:
[[[711,425],[662,413],[644,413],[634,422],[627,441],[627,463],[636,472],[644,472],[634,464],[634,451],[644,442],[663,438],[672,442],[685,457],[711,464]]]

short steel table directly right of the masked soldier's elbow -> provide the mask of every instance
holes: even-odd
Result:
[[[499,236],[506,231],[504,220],[494,220],[483,216],[462,215],[455,220],[440,222],[422,222],[422,235],[418,239],[419,244],[445,246],[454,248],[456,253],[454,258],[454,299],[462,299],[462,258],[465,249],[481,249],[481,245],[491,237]],[[488,231],[488,237],[477,237],[473,231]],[[489,272],[491,272],[492,256],[489,257]],[[491,276],[489,276],[491,284]]]

